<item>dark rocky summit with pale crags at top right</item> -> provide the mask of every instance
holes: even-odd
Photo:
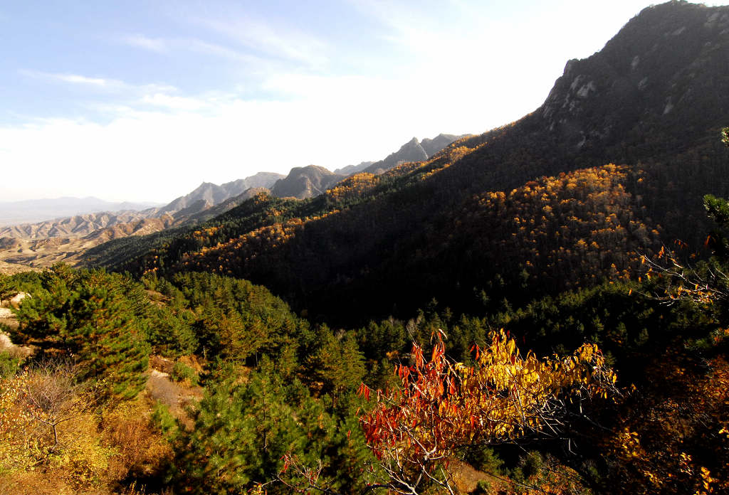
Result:
[[[601,52],[569,60],[536,114],[577,149],[648,129],[681,138],[707,121],[726,122],[726,74],[729,7],[662,4],[644,9]]]

